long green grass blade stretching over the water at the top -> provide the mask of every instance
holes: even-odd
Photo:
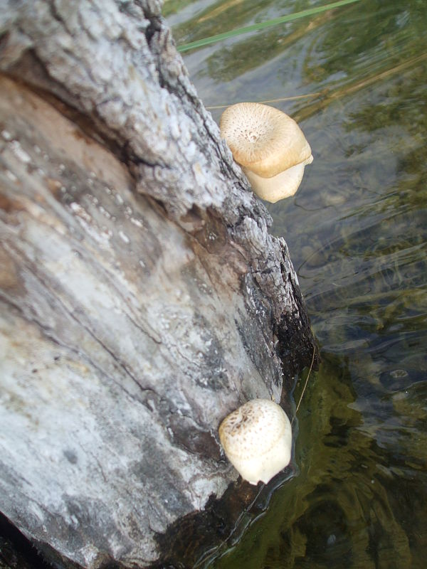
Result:
[[[268,20],[266,22],[253,23],[251,26],[244,26],[243,28],[237,28],[236,30],[217,33],[216,36],[211,36],[209,38],[204,38],[201,40],[184,43],[182,46],[178,46],[176,49],[182,52],[182,51],[188,51],[190,49],[201,48],[203,46],[209,46],[209,43],[215,43],[216,41],[226,40],[227,38],[240,36],[242,33],[249,33],[251,31],[263,30],[264,28],[269,28],[270,26],[277,26],[279,23],[290,22],[292,20],[297,20],[298,18],[305,18],[306,16],[313,16],[314,14],[320,14],[320,12],[324,12],[326,10],[332,10],[334,8],[339,8],[339,6],[345,6],[346,4],[353,4],[354,2],[359,2],[359,1],[360,0],[340,0],[338,2],[332,2],[331,4],[325,4],[325,6],[317,6],[317,8],[309,8],[307,10],[295,12],[295,14],[288,14],[288,16],[273,18],[272,20]]]

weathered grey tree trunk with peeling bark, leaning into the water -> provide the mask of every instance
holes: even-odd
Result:
[[[0,73],[0,510],[149,565],[236,479],[223,417],[310,364],[297,278],[158,1],[6,1]]]

